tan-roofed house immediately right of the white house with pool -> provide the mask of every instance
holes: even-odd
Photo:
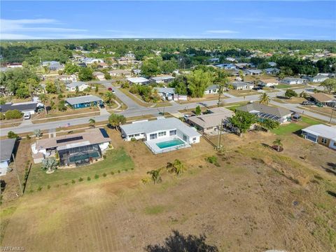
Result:
[[[218,132],[221,125],[228,122],[228,118],[232,117],[235,113],[225,108],[215,108],[216,110],[210,111],[211,113],[202,116],[191,116],[188,118],[188,123],[194,126],[200,132],[205,134],[212,134]]]

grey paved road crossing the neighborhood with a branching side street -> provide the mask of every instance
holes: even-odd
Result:
[[[95,82],[97,83],[97,81]],[[102,83],[106,87],[113,87],[111,85],[111,81],[108,80],[102,80],[99,83]],[[321,87],[318,87],[321,88]],[[159,116],[160,112],[171,112],[175,113],[177,111],[181,111],[183,109],[194,109],[197,105],[200,106],[214,106],[217,104],[217,100],[213,101],[207,101],[207,102],[194,102],[190,104],[172,104],[172,106],[166,106],[165,108],[160,107],[160,108],[146,108],[144,106],[140,106],[136,102],[134,102],[130,97],[127,97],[126,94],[118,90],[118,88],[113,87],[113,90],[116,90],[116,95],[118,98],[124,102],[127,106],[128,109],[125,111],[120,112],[123,116],[129,118],[129,117],[134,117],[134,116],[145,116],[145,115],[153,115],[153,116]],[[307,87],[307,88],[302,88],[295,90],[296,92],[300,93],[302,91],[306,92],[312,92],[313,88]],[[269,97],[276,97],[277,95],[283,95],[284,90],[279,90],[278,92],[269,92]],[[259,94],[255,95],[250,95],[246,96],[245,99],[244,97],[232,97],[230,95],[230,98],[228,99],[223,99],[223,102],[227,105],[230,105],[231,103],[235,102],[244,102],[244,101],[258,101],[259,99]],[[297,109],[296,106],[297,104],[281,104],[278,102],[272,101],[271,104],[274,104],[276,106],[281,106],[286,109],[290,109],[291,111],[295,111],[297,113],[302,113],[302,109]],[[311,111],[304,111],[304,114],[307,116],[311,116],[314,118],[318,118],[321,120],[326,120],[329,121],[329,118],[327,116],[322,116],[321,114],[318,113],[312,113]],[[88,124],[89,119],[94,118],[96,122],[102,122],[104,120],[108,120],[109,114],[104,114],[100,116],[90,116],[86,118],[75,118],[75,119],[69,119],[69,120],[59,120],[57,122],[50,122],[50,123],[38,123],[38,124],[31,124],[31,125],[19,125],[18,127],[8,127],[1,129],[0,135],[1,136],[6,136],[8,134],[8,131],[12,130],[15,133],[21,134],[21,133],[26,133],[26,132],[33,132],[36,129],[39,130],[50,130],[50,129],[55,129],[57,127],[67,127],[67,126],[73,126],[73,125],[83,125],[83,124]],[[336,120],[333,119],[332,123],[336,123]]]

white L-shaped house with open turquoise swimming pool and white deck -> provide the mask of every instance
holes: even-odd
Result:
[[[177,118],[143,120],[120,126],[123,139],[144,139],[154,154],[191,147],[200,142],[201,134]]]

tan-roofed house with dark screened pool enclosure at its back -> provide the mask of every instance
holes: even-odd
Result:
[[[35,163],[58,153],[60,166],[80,166],[101,160],[102,153],[110,144],[106,130],[95,128],[77,134],[38,139],[31,145],[31,151]]]

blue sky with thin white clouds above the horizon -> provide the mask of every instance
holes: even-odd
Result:
[[[336,40],[336,1],[1,1],[0,39]]]

